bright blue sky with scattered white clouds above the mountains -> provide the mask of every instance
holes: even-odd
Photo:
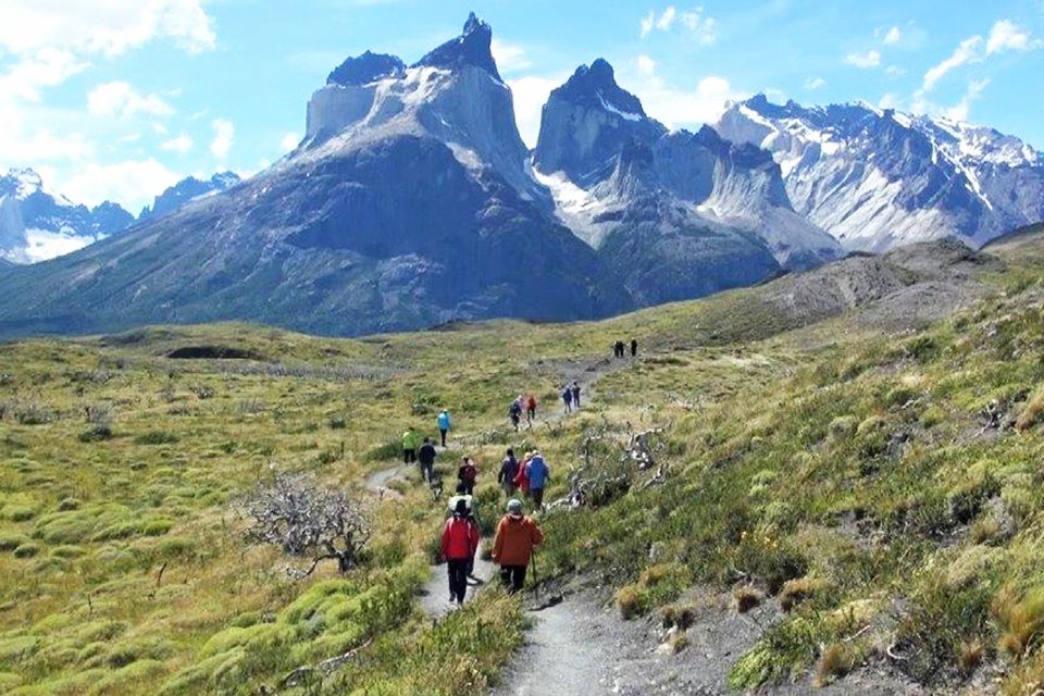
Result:
[[[345,58],[417,61],[471,10],[493,25],[530,146],[549,91],[601,57],[671,127],[763,92],[1044,149],[1044,0],[0,0],[0,171],[135,213],[188,175],[250,175],[297,145]]]

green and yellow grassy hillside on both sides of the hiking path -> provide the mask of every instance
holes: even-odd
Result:
[[[1044,243],[991,251],[1005,263],[854,259],[596,324],[364,340],[228,324],[5,344],[0,691],[483,688],[522,641],[520,604],[489,588],[433,624],[415,595],[442,505],[415,482],[383,499],[362,485],[395,464],[407,425],[433,433],[446,406],[459,449],[440,465],[475,456],[487,509],[508,445],[545,451],[552,500],[585,452],[587,478],[626,478],[597,506],[543,515],[544,579],[608,574],[631,618],[673,616],[694,587],[786,607],[736,656],[737,688],[880,661],[944,691],[1032,692]],[[822,288],[836,301],[809,309],[800,298]],[[639,359],[607,362],[632,336]],[[186,353],[247,359],[169,357]],[[574,375],[597,377],[591,410],[509,432],[510,398],[557,409]],[[649,428],[662,430],[657,465],[621,468],[619,445]],[[294,559],[243,539],[236,500],[283,471],[370,507],[374,536],[349,575],[330,563],[291,580]],[[353,648],[328,674],[287,679]]]

